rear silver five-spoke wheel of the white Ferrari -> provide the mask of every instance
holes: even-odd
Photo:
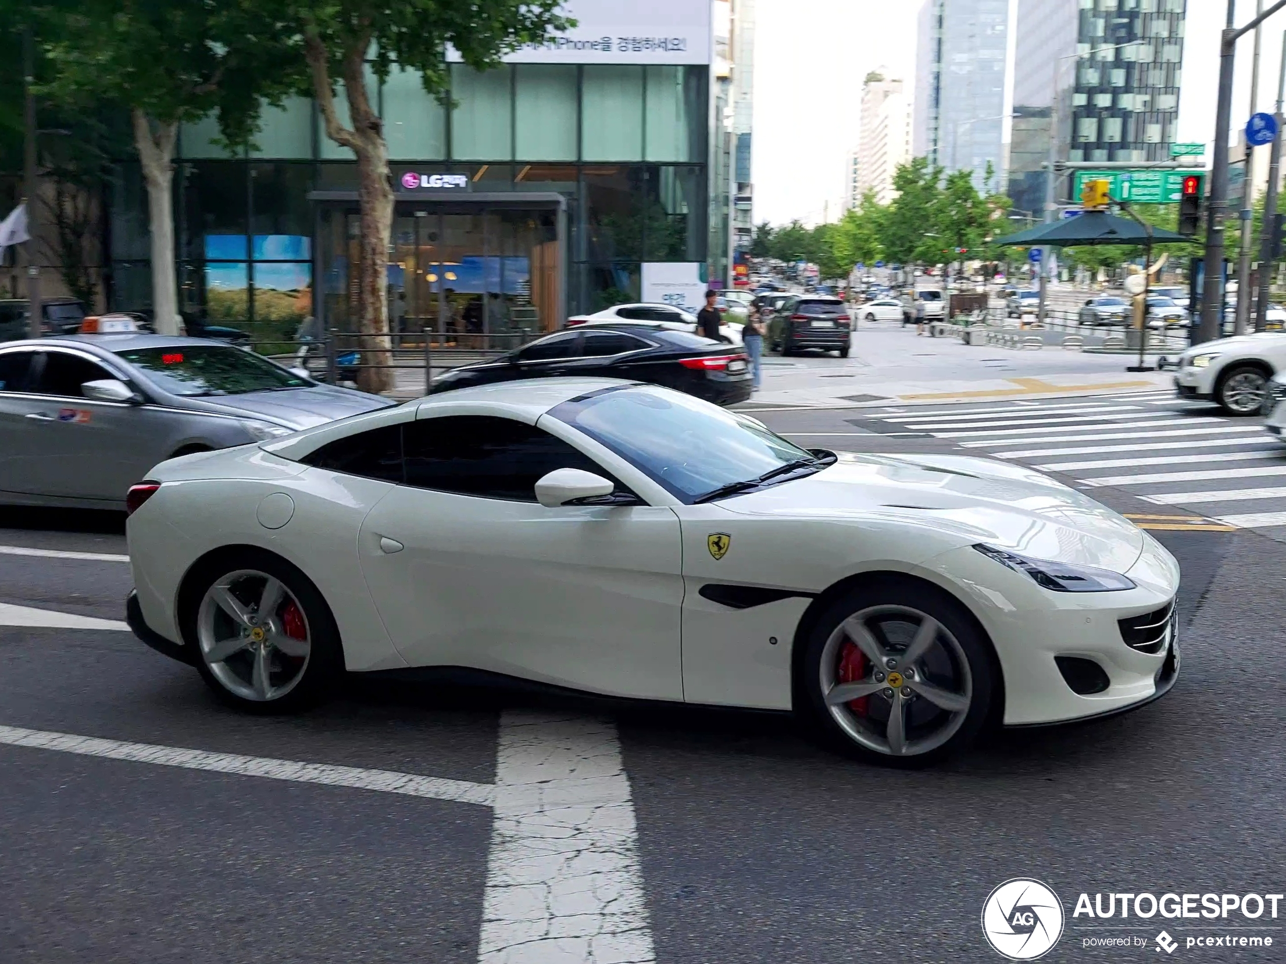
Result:
[[[303,607],[279,578],[256,569],[230,572],[206,590],[197,640],[213,677],[252,702],[294,689],[312,652]]]

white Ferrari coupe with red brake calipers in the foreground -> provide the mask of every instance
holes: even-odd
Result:
[[[467,667],[793,710],[914,763],[1139,706],[1179,668],[1178,566],[1087,496],[804,450],[656,386],[466,388],[171,459],[130,506],[130,625],[251,711]]]

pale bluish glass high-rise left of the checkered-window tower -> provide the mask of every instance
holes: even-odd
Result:
[[[913,150],[981,185],[1006,152],[1010,0],[925,0],[916,59]]]

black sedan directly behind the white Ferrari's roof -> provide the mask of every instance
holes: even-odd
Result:
[[[751,373],[739,346],[647,324],[558,332],[508,355],[453,369],[433,382],[431,393],[565,375],[651,382],[716,405],[746,401],[751,393]]]

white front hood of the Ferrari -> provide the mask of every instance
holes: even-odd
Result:
[[[730,512],[883,519],[954,533],[1035,559],[1128,571],[1143,533],[1047,476],[959,455],[854,455],[822,472],[721,501]]]

